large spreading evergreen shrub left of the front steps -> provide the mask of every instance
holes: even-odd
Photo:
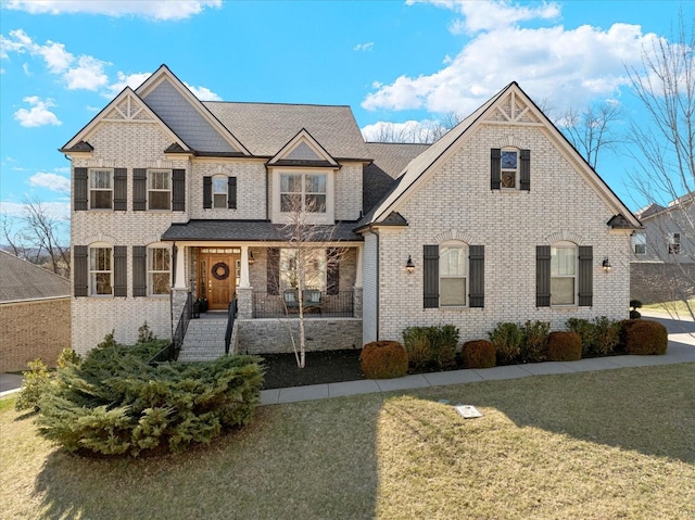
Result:
[[[263,384],[260,358],[151,367],[147,359],[161,344],[102,346],[59,369],[40,399],[39,434],[68,452],[137,456],[181,452],[251,420]]]

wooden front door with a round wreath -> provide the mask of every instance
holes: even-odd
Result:
[[[210,310],[226,310],[239,286],[241,251],[233,248],[204,248],[200,252],[200,296]]]

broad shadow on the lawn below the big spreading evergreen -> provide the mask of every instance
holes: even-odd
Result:
[[[42,518],[374,518],[380,405],[261,407],[250,426],[180,455],[88,459],[56,451],[35,496]]]

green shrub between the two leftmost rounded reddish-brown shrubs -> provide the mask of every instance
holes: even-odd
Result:
[[[458,338],[458,329],[453,325],[408,327],[403,331],[403,345],[408,354],[409,366],[417,369],[455,365]]]

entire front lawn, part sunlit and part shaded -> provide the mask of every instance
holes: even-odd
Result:
[[[695,518],[694,373],[682,364],[265,406],[210,446],[146,459],[66,455],[3,406],[0,510],[89,520]],[[439,399],[484,417],[463,420]]]

